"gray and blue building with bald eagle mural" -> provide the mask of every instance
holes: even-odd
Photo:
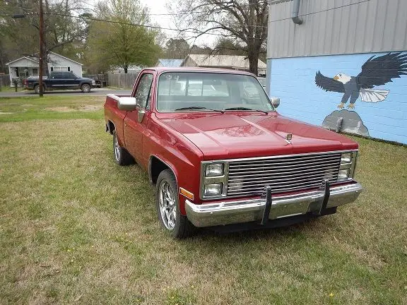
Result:
[[[267,90],[285,116],[407,144],[407,1],[271,0]]]

